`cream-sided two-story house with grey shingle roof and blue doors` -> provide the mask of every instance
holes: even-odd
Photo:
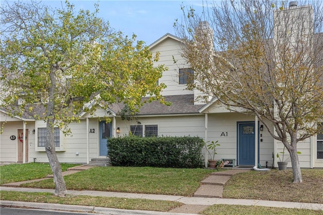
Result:
[[[62,163],[89,163],[91,159],[106,158],[107,137],[128,135],[138,136],[200,136],[205,141],[219,140],[216,159],[235,159],[235,165],[277,167],[276,155],[280,151],[277,141],[252,115],[229,111],[216,99],[208,102],[197,100],[201,93],[187,90],[187,82],[193,81],[194,71],[181,56],[180,38],[166,34],[150,46],[152,53],[159,51],[157,64],[165,64],[159,83],[165,83],[163,91],[170,106],[158,101],[144,104],[136,119],[122,120],[118,115],[124,106],[114,104],[109,110],[96,108],[95,117],[80,113],[80,123],[71,123],[71,134],[65,136],[55,130],[57,156]],[[192,75],[192,76],[190,76]],[[145,98],[143,98],[145,99]],[[89,107],[91,108],[91,107]],[[37,109],[41,113],[42,107]],[[100,121],[104,116],[111,122]],[[9,117],[0,110],[1,162],[48,162],[44,149],[46,125],[28,115]],[[274,127],[273,127],[274,129]],[[281,146],[280,146],[281,147]],[[299,147],[302,168],[323,167],[323,134],[313,136]],[[207,156],[202,152],[207,165]],[[289,162],[289,167],[290,167]]]

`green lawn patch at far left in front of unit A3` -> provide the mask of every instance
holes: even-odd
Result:
[[[80,164],[61,164],[62,171],[68,168],[79,166]],[[51,175],[52,171],[48,163],[27,163],[10,164],[0,166],[0,184],[8,184],[18,181],[28,181],[38,178],[44,178]]]

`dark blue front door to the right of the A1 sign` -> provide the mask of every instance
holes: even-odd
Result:
[[[254,123],[239,123],[239,165],[255,164],[254,135]]]

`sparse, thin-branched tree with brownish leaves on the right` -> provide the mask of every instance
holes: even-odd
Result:
[[[321,2],[294,8],[266,0],[203,4],[202,15],[182,7],[183,21],[174,23],[195,72],[188,88],[257,116],[283,142],[294,182],[302,182],[297,143],[314,135],[323,118]]]

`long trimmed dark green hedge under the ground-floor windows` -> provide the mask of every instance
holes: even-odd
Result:
[[[200,137],[109,138],[108,156],[113,166],[201,168],[203,139]]]

